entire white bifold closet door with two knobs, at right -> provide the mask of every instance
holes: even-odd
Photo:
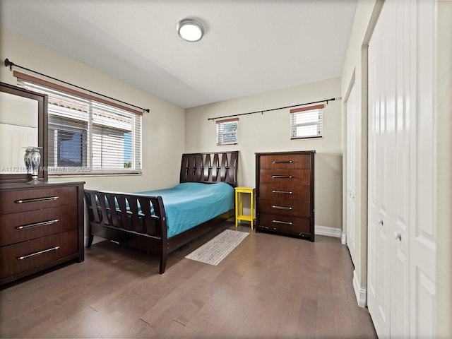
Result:
[[[369,43],[367,303],[379,338],[434,337],[433,8],[386,1]]]

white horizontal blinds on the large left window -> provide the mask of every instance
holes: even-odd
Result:
[[[49,174],[141,173],[141,115],[18,78],[49,96]]]

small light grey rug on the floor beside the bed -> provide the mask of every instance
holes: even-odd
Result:
[[[247,232],[225,230],[186,256],[191,260],[218,265],[248,235]]]

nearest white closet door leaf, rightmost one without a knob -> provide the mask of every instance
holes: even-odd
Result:
[[[435,338],[436,299],[436,230],[434,220],[434,56],[436,1],[412,1],[410,9],[415,24],[412,25],[410,90],[412,105],[412,147],[410,179],[412,187],[410,225],[410,337]],[[441,49],[438,49],[441,52]],[[415,56],[415,58],[414,58]],[[441,75],[441,76],[451,76]],[[451,268],[444,268],[451,269]]]

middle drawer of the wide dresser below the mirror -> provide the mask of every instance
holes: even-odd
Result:
[[[78,227],[77,206],[30,210],[23,213],[0,215],[0,246]]]

